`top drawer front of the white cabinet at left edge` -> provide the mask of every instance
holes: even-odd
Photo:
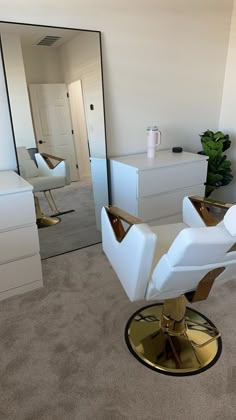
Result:
[[[35,223],[34,198],[31,191],[0,196],[0,230]]]

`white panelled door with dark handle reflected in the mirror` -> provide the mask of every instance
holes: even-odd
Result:
[[[77,162],[66,85],[30,84],[29,92],[39,151],[67,159],[71,179],[77,180]]]

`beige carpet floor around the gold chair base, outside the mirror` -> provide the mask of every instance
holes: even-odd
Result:
[[[1,420],[235,420],[236,282],[194,308],[223,333],[206,372],[158,374],[128,351],[130,303],[101,245],[43,261],[43,289],[0,302]]]

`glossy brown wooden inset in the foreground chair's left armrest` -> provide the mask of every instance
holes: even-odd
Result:
[[[121,242],[124,239],[131,226],[143,223],[137,217],[126,213],[118,207],[107,206],[105,209],[118,242]],[[127,230],[125,230],[121,221],[129,225]]]

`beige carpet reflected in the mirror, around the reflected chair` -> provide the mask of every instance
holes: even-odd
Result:
[[[61,222],[57,225],[39,229],[41,258],[49,258],[101,242],[101,232],[96,226],[91,180],[72,182],[64,188],[53,190],[52,193],[60,211],[75,211],[62,214]],[[43,193],[37,195],[43,212],[51,214]]]

